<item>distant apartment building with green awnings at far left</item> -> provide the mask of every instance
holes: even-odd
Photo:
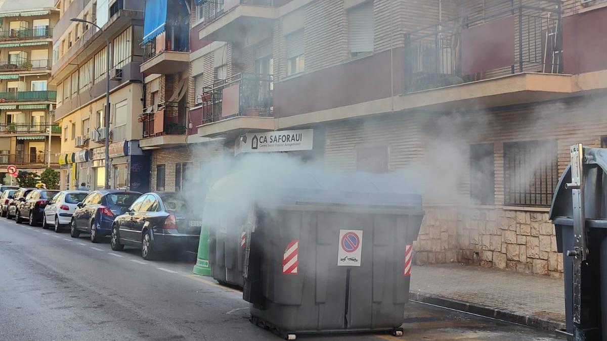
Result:
[[[59,167],[60,130],[50,115],[56,91],[48,83],[58,18],[52,0],[0,5],[1,183],[16,183],[10,164],[38,174]]]

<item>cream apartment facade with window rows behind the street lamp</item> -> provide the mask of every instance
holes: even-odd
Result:
[[[149,189],[149,156],[139,147],[137,114],[143,110],[143,2],[57,1],[51,84],[56,86],[55,120],[62,129],[61,188]],[[71,19],[84,19],[101,27]],[[109,47],[107,44],[109,43]],[[109,48],[109,64],[107,49]],[[107,71],[110,108],[106,108]],[[110,115],[110,126],[105,126]],[[109,174],[104,142],[109,129]]]

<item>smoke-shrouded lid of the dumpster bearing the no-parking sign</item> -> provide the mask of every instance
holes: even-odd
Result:
[[[207,200],[242,200],[274,204],[344,204],[422,208],[421,195],[396,174],[298,172],[273,174],[257,181],[246,171],[233,172],[215,181]]]

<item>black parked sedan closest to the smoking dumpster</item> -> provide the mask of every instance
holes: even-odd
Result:
[[[163,251],[196,252],[201,226],[200,215],[179,194],[148,193],[114,220],[110,243],[114,251],[124,245],[141,248],[146,260]]]

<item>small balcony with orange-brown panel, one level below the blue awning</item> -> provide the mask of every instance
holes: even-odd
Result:
[[[142,113],[138,121],[143,124],[144,149],[171,147],[186,141],[186,108],[184,104],[169,102],[155,113]]]

